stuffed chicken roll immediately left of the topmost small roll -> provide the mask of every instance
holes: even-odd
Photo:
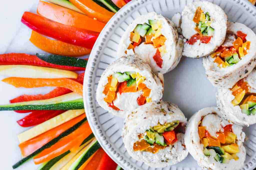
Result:
[[[118,57],[138,54],[155,73],[174,69],[182,57],[183,41],[176,26],[161,14],[150,12],[136,18],[126,29]]]

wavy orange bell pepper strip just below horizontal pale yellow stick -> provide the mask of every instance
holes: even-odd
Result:
[[[22,77],[8,77],[2,80],[5,83],[11,84],[15,87],[65,87],[71,91],[83,96],[83,85],[72,79],[33,79]]]

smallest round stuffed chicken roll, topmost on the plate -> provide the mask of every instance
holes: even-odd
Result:
[[[224,41],[227,31],[227,15],[217,5],[197,1],[182,11],[181,29],[187,39],[183,55],[191,58],[213,53]]]

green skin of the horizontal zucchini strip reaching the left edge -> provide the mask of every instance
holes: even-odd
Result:
[[[83,102],[63,102],[43,105],[23,105],[14,107],[0,107],[0,111],[6,110],[78,110],[83,109]]]

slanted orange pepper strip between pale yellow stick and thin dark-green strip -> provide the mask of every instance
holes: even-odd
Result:
[[[44,146],[46,143],[51,141],[52,139],[59,136],[61,133],[66,131],[68,128],[74,126],[78,122],[80,122],[82,119],[86,117],[85,114],[81,114],[80,116],[75,117],[74,119],[71,119],[68,122],[65,122],[53,129],[48,130],[47,132],[38,135],[34,137],[33,139],[30,139],[28,141],[22,142],[19,144],[20,151],[22,153],[22,156],[26,157],[36,151],[37,149]]]

